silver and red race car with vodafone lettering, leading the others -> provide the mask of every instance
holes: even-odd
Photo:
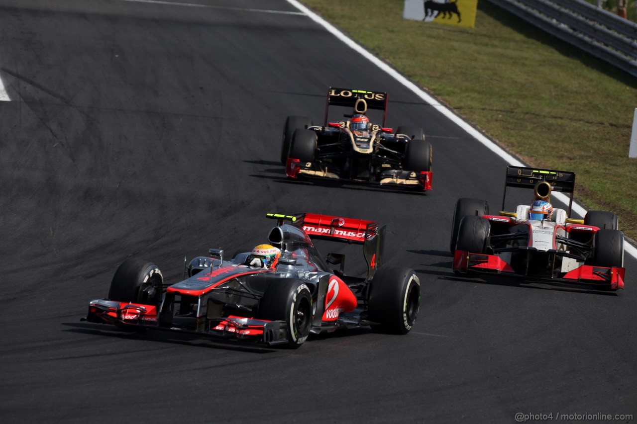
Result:
[[[384,226],[310,213],[268,217],[278,220],[266,249],[277,252],[275,262],[255,264],[254,251],[226,260],[210,249],[184,260],[183,281],[166,285],[156,265],[132,258],[115,272],[108,298],[90,301],[85,320],[293,348],[339,328],[410,332],[420,281],[412,269],[383,264]],[[317,238],[362,245],[367,275],[345,274],[345,255],[320,255]]]

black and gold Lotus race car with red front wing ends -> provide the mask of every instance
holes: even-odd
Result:
[[[330,87],[325,119],[290,116],[283,128],[281,162],[289,178],[363,181],[386,187],[431,190],[431,143],[420,127],[385,127],[387,93]],[[330,106],[348,108],[347,120],[328,122]],[[366,113],[383,112],[382,125]]]

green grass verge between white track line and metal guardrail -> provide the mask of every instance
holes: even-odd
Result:
[[[637,78],[484,0],[473,29],[405,20],[403,0],[303,3],[529,165],[575,171],[576,199],[637,239]]]

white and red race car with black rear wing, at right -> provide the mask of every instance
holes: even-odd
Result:
[[[521,204],[515,212],[490,214],[486,201],[459,199],[450,242],[454,272],[624,288],[624,235],[617,215],[588,211],[583,220],[569,218],[575,173],[509,166],[502,209],[507,187],[529,188],[540,203],[553,191],[568,194],[568,212],[555,208],[536,216],[529,204]]]

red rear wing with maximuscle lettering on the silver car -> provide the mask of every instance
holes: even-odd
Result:
[[[301,227],[311,239],[362,244],[363,255],[368,265],[368,279],[373,278],[376,269],[382,264],[385,225],[380,226],[374,221],[315,213],[268,213],[266,216],[278,220],[277,225],[283,225],[287,221]]]

